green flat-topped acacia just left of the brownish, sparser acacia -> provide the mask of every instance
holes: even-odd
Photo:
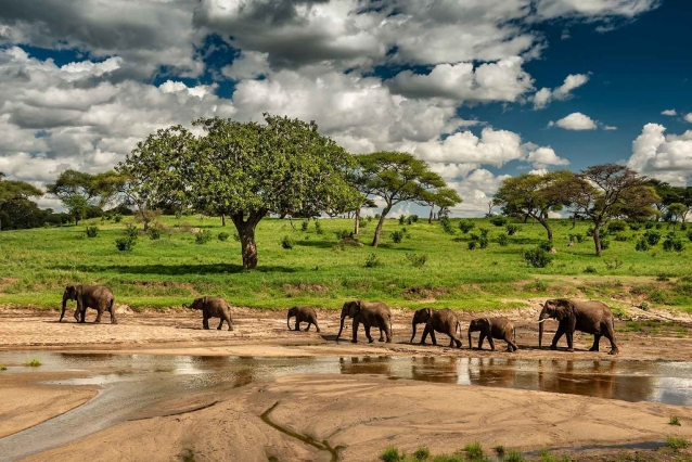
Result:
[[[503,207],[505,214],[520,213],[534,218],[553,241],[553,231],[548,223],[550,211],[559,211],[568,204],[561,190],[574,174],[567,170],[551,171],[546,175],[522,174],[507,178],[495,194],[494,204]]]

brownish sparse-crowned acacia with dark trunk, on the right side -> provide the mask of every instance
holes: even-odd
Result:
[[[595,255],[601,256],[601,229],[614,218],[639,220],[656,215],[659,200],[646,178],[616,164],[594,165],[562,184],[561,193],[575,213],[593,222]]]

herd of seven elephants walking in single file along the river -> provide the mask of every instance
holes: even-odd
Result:
[[[65,308],[68,300],[77,301],[75,310],[75,319],[77,322],[85,322],[87,308],[93,308],[98,311],[94,322],[101,322],[101,316],[104,312],[111,313],[111,323],[117,324],[115,317],[115,296],[111,288],[102,285],[69,285],[65,287],[63,293],[63,310],[60,315],[60,322],[65,316]],[[195,298],[191,305],[184,305],[184,308],[191,308],[202,311],[203,326],[209,329],[209,319],[219,318],[218,330],[228,323],[228,330],[233,330],[233,320],[231,318],[231,306],[221,297],[202,297]],[[392,312],[389,307],[380,301],[346,301],[342,308],[341,328],[336,339],[342,335],[344,330],[344,321],[346,317],[353,320],[353,337],[351,343],[358,342],[358,326],[363,325],[366,336],[370,343],[373,342],[370,330],[376,328],[380,330],[380,342],[392,342]],[[295,318],[295,330],[299,331],[300,323],[307,322],[308,331],[310,325],[315,324],[317,332],[320,332],[317,322],[317,312],[309,307],[293,307],[289,310],[286,324],[291,329],[291,318]],[[607,305],[601,301],[577,301],[566,298],[555,298],[546,300],[542,304],[542,310],[538,317],[538,347],[542,346],[543,322],[548,319],[559,321],[558,332],[553,337],[551,349],[558,349],[558,342],[565,335],[567,338],[567,350],[574,351],[573,335],[575,331],[585,332],[593,335],[593,346],[590,351],[598,351],[601,337],[604,336],[611,342],[611,355],[617,355],[618,348],[615,344],[615,318]],[[461,322],[457,318],[457,313],[450,309],[433,309],[422,308],[413,313],[411,325],[413,335],[411,343],[415,337],[415,329],[418,324],[425,324],[421,344],[425,344],[427,336],[431,336],[433,345],[437,345],[435,333],[449,336],[449,346],[461,348]],[[504,317],[497,318],[477,318],[469,323],[469,347],[471,348],[471,333],[479,332],[478,349],[483,349],[485,338],[490,344],[490,349],[495,350],[494,339],[504,341],[508,351],[516,351],[516,330],[511,320]]]

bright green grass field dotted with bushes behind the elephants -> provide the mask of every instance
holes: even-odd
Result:
[[[400,226],[386,220],[383,243],[368,244],[375,221],[362,230],[362,247],[341,246],[337,231],[351,230],[353,221],[322,219],[322,234],[310,221],[307,232],[300,221],[265,219],[257,230],[259,267],[242,269],[240,243],[234,228],[221,227],[218,218],[164,217],[165,227],[157,241],[140,234],[132,252],[119,252],[115,240],[124,238],[125,224],[132,222],[91,220],[79,227],[63,227],[0,233],[0,305],[56,308],[65,285],[75,283],[111,286],[117,303],[133,308],[179,306],[195,296],[221,295],[236,306],[284,308],[292,305],[336,308],[348,298],[383,300],[396,307],[436,306],[474,309],[514,308],[531,297],[588,296],[608,300],[617,307],[630,300],[651,307],[668,306],[692,312],[692,243],[687,231],[678,231],[685,248],[664,252],[662,244],[648,252],[636,252],[638,231],[620,234],[627,241],[608,236],[610,248],[594,256],[593,242],[586,236],[588,222],[553,220],[558,254],[547,268],[526,265],[524,249],[534,248],[546,233],[540,224],[522,223],[509,245],[500,246],[503,227],[487,219],[475,219],[469,234],[443,230],[439,222]],[[98,226],[97,238],[87,238],[85,228]],[[139,224],[141,229],[141,224]],[[209,230],[213,239],[195,243],[190,227]],[[399,244],[389,234],[406,228]],[[467,242],[479,228],[489,230],[489,246],[470,251]],[[221,242],[219,232],[231,238]],[[663,236],[666,224],[657,230]],[[567,246],[569,234],[582,234],[584,241]],[[284,236],[294,245],[285,249]],[[624,239],[624,238],[620,238]],[[663,239],[662,239],[663,241]],[[380,266],[366,267],[374,254]],[[426,255],[422,267],[414,267],[407,255]]]

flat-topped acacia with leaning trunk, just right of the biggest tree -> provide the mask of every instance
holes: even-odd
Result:
[[[384,201],[372,246],[380,243],[382,226],[395,205],[412,201],[425,204],[431,193],[445,188],[443,178],[431,171],[424,161],[401,152],[379,152],[356,156],[360,180],[360,191]]]

